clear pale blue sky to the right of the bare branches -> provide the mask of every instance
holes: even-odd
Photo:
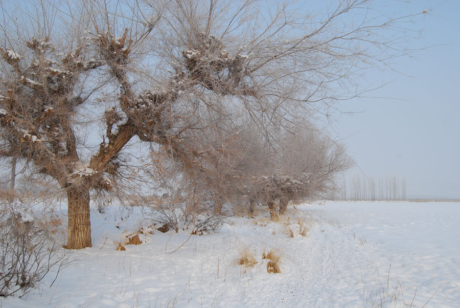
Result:
[[[390,83],[341,104],[351,113],[338,113],[333,130],[357,165],[348,177],[396,174],[405,178],[408,198],[460,199],[458,14],[458,0],[428,12],[418,43],[430,47],[394,65],[399,73],[374,72],[376,85]]]

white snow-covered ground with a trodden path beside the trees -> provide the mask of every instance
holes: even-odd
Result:
[[[288,218],[231,217],[218,233],[147,234],[117,251],[142,217],[91,212],[93,247],[2,307],[460,307],[460,203],[289,206]],[[123,219],[122,219],[123,218]],[[310,224],[298,234],[299,219]],[[118,226],[118,228],[117,228]],[[291,237],[288,227],[292,230]],[[190,238],[189,238],[190,237]],[[185,243],[185,244],[184,244]],[[182,245],[182,246],[181,246]],[[257,260],[237,265],[247,249]],[[276,250],[281,273],[262,255]],[[380,307],[380,306],[379,306]]]

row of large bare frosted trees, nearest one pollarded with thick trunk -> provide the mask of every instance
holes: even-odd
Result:
[[[404,25],[424,13],[370,0],[312,15],[256,0],[2,6],[0,156],[65,192],[69,249],[91,246],[91,191],[145,174],[216,211],[330,189],[350,162],[313,123],[369,90],[364,70],[406,55],[418,33]],[[161,159],[141,170],[149,156]]]

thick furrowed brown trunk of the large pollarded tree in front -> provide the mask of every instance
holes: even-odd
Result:
[[[68,237],[66,249],[91,247],[91,227],[89,224],[89,188],[72,186],[67,188]]]

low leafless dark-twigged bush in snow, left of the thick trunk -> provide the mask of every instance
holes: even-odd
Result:
[[[70,263],[55,243],[57,223],[38,221],[17,205],[0,204],[0,296],[24,296],[57,267]]]

